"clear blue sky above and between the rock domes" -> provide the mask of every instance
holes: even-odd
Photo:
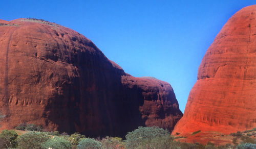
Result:
[[[0,19],[41,18],[91,39],[135,77],[174,88],[184,112],[198,67],[226,21],[256,1],[1,1]]]

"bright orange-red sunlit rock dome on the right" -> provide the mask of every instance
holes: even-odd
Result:
[[[256,127],[256,5],[243,8],[225,24],[208,48],[184,116],[175,126],[231,133]]]

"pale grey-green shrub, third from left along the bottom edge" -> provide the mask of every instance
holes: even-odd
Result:
[[[52,148],[52,149],[70,149],[71,148],[71,142],[61,138],[61,137],[53,137],[52,139],[49,139],[48,141],[41,144],[42,148]]]

